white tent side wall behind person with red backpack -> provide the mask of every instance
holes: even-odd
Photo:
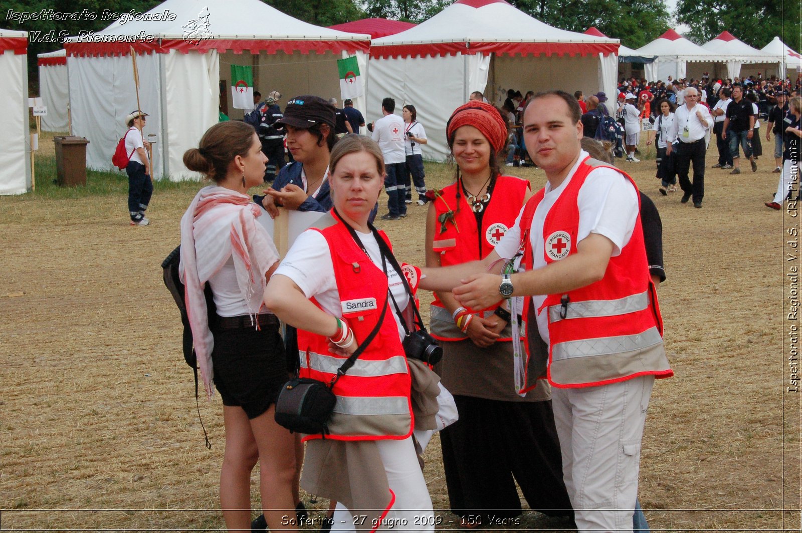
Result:
[[[136,56],[136,67],[140,75],[140,105],[148,113],[144,135],[162,135],[159,58],[156,54]],[[87,167],[109,169],[111,155],[120,137],[128,126],[125,117],[136,110],[136,87],[134,85],[131,56],[67,57],[70,75],[70,95],[73,135],[86,137]],[[188,87],[188,86],[187,86]],[[187,91],[192,98],[192,91]],[[196,113],[198,111],[192,111]],[[164,143],[156,143],[156,164],[164,155]],[[153,169],[153,178],[162,176],[160,166]]]

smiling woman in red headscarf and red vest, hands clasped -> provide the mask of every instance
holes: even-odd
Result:
[[[488,256],[532,196],[528,181],[499,171],[508,131],[495,107],[457,107],[446,133],[457,171],[429,207],[427,267]],[[468,529],[520,515],[515,480],[532,509],[573,514],[549,385],[516,391],[512,320],[506,301],[464,309],[452,293],[437,292],[431,305],[431,333],[444,349],[439,373],[460,416],[440,432],[446,484],[452,512]]]

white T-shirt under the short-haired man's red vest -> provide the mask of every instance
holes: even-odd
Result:
[[[532,220],[532,230],[529,232],[532,242],[533,269],[542,269],[546,265],[544,258],[543,243],[543,223],[549,210],[560,197],[565,187],[569,184],[574,172],[577,172],[580,162],[588,156],[586,151],[581,151],[577,164],[573,166],[569,177],[563,181],[556,189],[551,189],[549,182],[546,182],[545,196],[535,210]],[[597,168],[590,172],[585,179],[585,184],[579,190],[577,197],[579,206],[579,228],[577,230],[577,244],[590,233],[598,233],[606,236],[613,241],[613,256],[621,253],[621,248],[630,242],[630,237],[638,220],[638,193],[630,184],[630,181],[619,172],[610,168]],[[516,254],[520,246],[520,216],[523,215],[523,208],[515,221],[515,225],[509,228],[501,241],[496,245],[496,252],[500,257],[509,258]],[[535,309],[540,309],[547,295],[536,295],[533,297]],[[537,328],[540,329],[541,337],[546,344],[549,344],[549,313],[543,309],[537,314]]]

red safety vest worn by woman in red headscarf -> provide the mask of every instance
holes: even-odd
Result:
[[[463,264],[469,261],[484,259],[501,237],[515,224],[515,219],[524,204],[524,198],[529,191],[529,181],[514,176],[498,176],[493,187],[490,201],[484,209],[482,228],[476,228],[474,215],[465,195],[460,192],[459,209],[457,209],[458,184],[451,184],[443,189],[442,198],[435,200],[436,219],[448,212],[449,207],[456,209],[455,223],[449,220],[446,231],[440,232],[439,221],[435,222],[435,238],[432,249],[440,253],[440,264]],[[459,231],[457,231],[459,228]],[[481,309],[482,317],[489,317],[496,310],[496,305]],[[477,313],[476,311],[472,311]],[[462,341],[467,336],[460,331],[451,313],[445,308],[443,302],[435,294],[431,302],[431,334],[440,341]],[[499,338],[499,341],[511,341],[510,337]]]

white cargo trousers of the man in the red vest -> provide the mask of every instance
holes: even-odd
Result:
[[[646,408],[654,376],[552,387],[565,488],[578,531],[632,531]]]

